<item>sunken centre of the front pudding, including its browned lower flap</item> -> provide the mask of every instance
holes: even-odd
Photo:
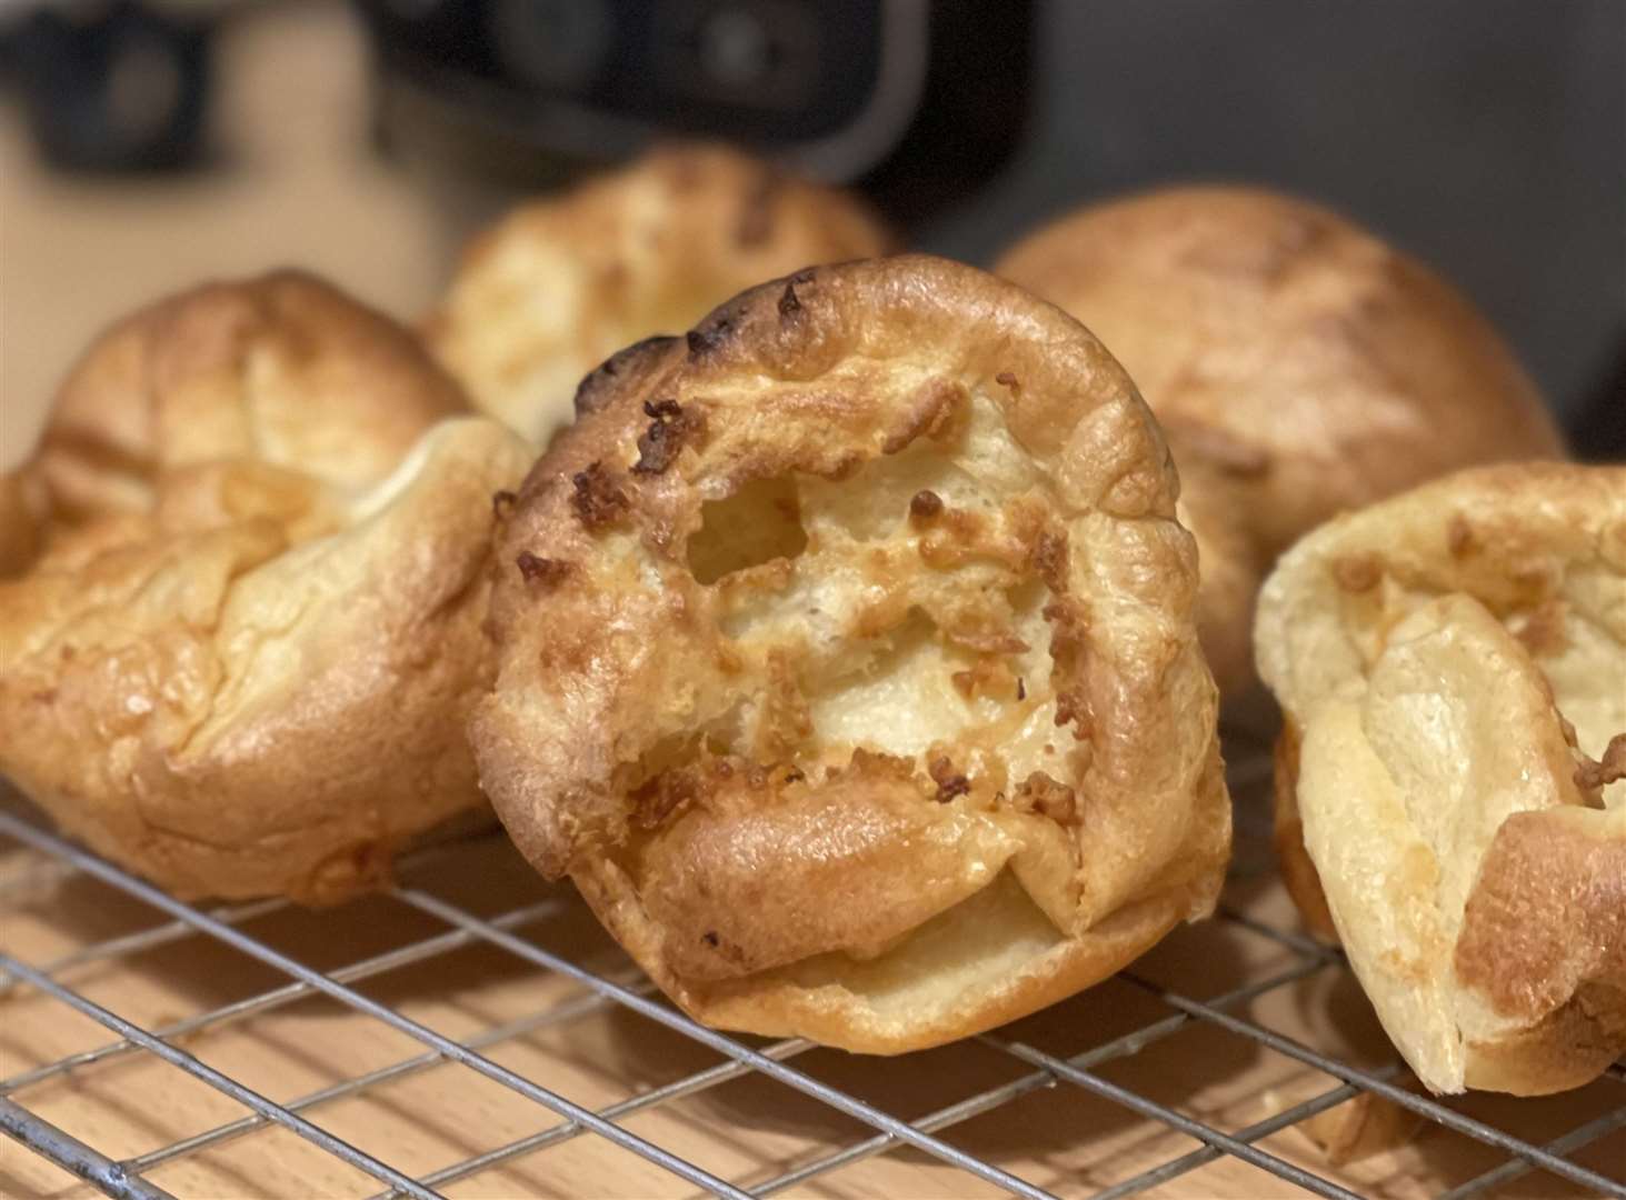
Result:
[[[842,478],[704,504],[685,556],[724,665],[626,780],[628,868],[678,974],[875,963],[984,893],[1021,945],[1060,937],[1091,754],[1057,725],[1067,553],[1049,480],[972,389]]]

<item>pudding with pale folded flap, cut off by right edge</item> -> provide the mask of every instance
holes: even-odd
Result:
[[[1259,602],[1278,846],[1434,1091],[1626,1050],[1626,467],[1460,472],[1333,520]]]

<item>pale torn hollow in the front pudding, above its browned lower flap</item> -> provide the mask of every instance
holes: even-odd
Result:
[[[767,678],[738,698],[728,750],[946,756],[990,790],[1067,777],[1075,740],[1055,725],[1036,554],[1060,528],[1046,480],[974,392],[946,436],[847,478],[751,480],[706,504],[689,567],[715,589],[728,646]]]

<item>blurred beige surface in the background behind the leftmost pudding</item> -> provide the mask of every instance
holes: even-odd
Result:
[[[429,192],[367,153],[366,47],[333,2],[249,11],[218,44],[221,163],[172,179],[46,171],[0,107],[0,467],[109,320],[176,288],[281,263],[421,312],[454,239]]]

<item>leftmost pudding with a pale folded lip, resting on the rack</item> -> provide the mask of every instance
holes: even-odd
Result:
[[[491,496],[530,462],[298,275],[104,335],[7,485],[0,772],[179,896],[335,901],[481,807]]]

